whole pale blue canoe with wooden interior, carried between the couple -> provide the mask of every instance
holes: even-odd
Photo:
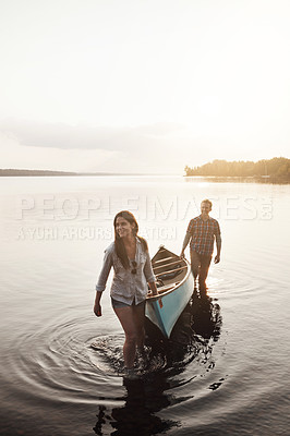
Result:
[[[193,293],[191,266],[188,259],[180,258],[162,245],[153,257],[152,265],[158,295],[147,296],[145,315],[169,338]]]

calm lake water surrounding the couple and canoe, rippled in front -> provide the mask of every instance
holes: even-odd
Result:
[[[152,256],[179,254],[205,197],[222,233],[209,301],[124,379],[109,283],[93,314],[113,216],[134,213]],[[289,199],[181,177],[1,178],[1,435],[289,435]]]

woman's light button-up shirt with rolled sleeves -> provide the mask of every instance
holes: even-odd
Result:
[[[114,242],[105,251],[104,265],[96,284],[96,291],[105,291],[106,283],[113,267],[113,279],[110,294],[114,300],[125,304],[142,303],[148,292],[147,282],[155,281],[152,262],[148,251],[145,251],[142,242],[136,238],[136,267],[130,265],[126,269],[123,267],[120,258],[116,254]],[[136,269],[136,274],[131,271]]]

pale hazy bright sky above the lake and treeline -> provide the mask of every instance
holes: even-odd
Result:
[[[290,157],[289,0],[0,0],[0,168]]]

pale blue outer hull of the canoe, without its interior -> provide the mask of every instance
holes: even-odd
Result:
[[[169,252],[170,253],[170,252]],[[176,256],[176,255],[174,255]],[[168,292],[160,293],[158,296],[147,298],[146,316],[169,338],[193,293],[193,276],[191,266],[186,259],[183,261],[185,276],[180,283]]]

